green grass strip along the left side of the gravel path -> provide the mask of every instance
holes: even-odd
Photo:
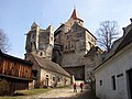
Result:
[[[12,97],[6,96],[6,97],[0,97],[0,99],[24,99],[26,96],[44,94],[50,90],[52,90],[52,89],[40,88],[40,89],[31,89],[31,90],[19,90]]]

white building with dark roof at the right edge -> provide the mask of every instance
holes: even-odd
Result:
[[[132,24],[112,54],[95,68],[96,95],[100,99],[132,99]]]

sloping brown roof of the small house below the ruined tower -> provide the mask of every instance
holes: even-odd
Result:
[[[65,76],[70,76],[64,68],[62,68],[58,64],[53,63],[52,61],[47,58],[43,58],[36,55],[33,55],[33,58],[36,61],[36,63],[42,67],[51,72],[55,72]]]

